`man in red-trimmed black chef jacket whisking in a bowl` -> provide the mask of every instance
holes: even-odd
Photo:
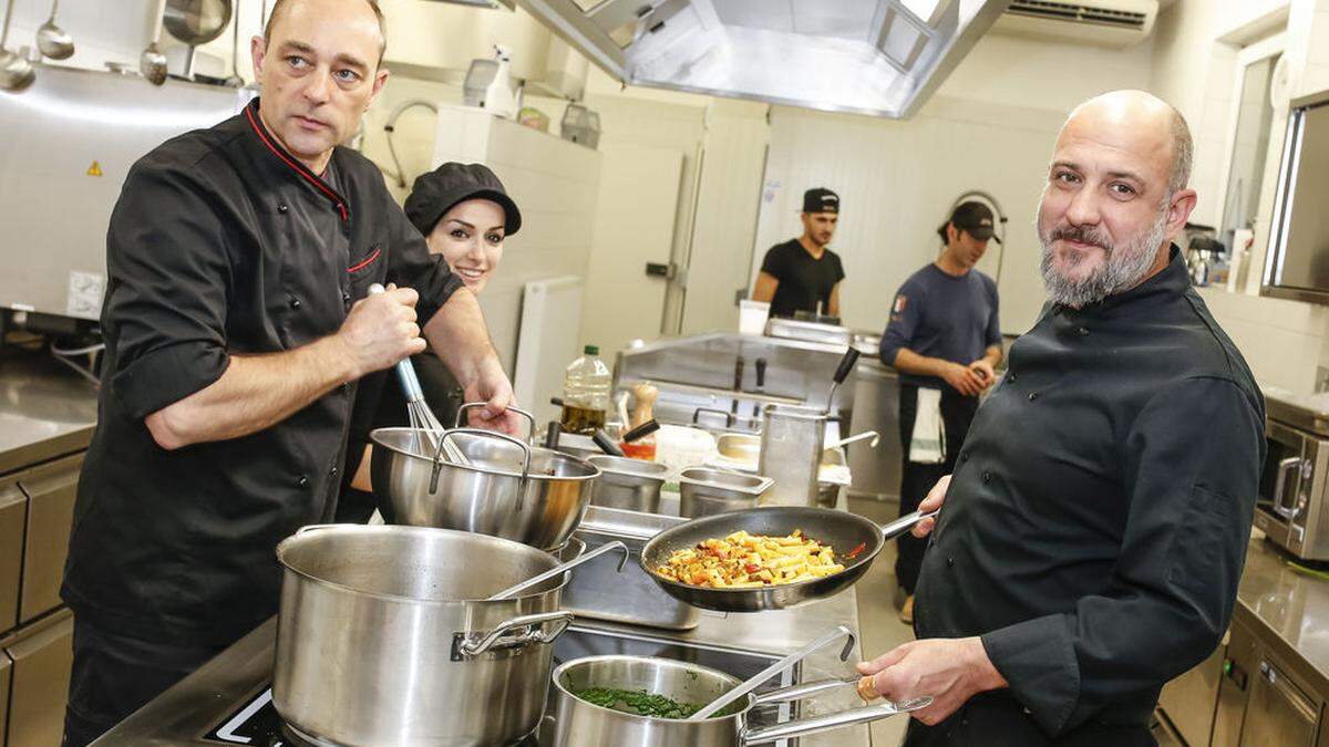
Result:
[[[262,98],[129,171],[62,589],[65,744],[276,611],[274,548],[332,516],[360,376],[428,339],[482,417],[514,425],[474,298],[338,146],[383,88],[383,49],[369,0],[280,0],[253,43]]]

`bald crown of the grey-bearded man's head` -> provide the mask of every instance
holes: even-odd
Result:
[[[1191,179],[1195,144],[1185,117],[1167,101],[1144,90],[1112,90],[1095,96],[1071,110],[1062,126],[1062,137],[1078,130],[1116,129],[1138,136],[1136,145],[1159,153],[1166,145],[1168,158],[1167,193],[1185,189]]]

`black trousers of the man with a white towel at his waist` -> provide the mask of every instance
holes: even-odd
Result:
[[[904,468],[900,475],[900,516],[918,510],[918,504],[928,497],[928,490],[956,469],[956,457],[965,444],[969,425],[978,412],[978,397],[966,397],[950,387],[941,389],[941,421],[946,429],[946,453],[940,464],[917,464],[909,461],[909,444],[913,441],[914,419],[918,416],[918,387],[900,384],[900,445],[902,447]],[[925,540],[904,534],[897,540],[896,580],[906,594],[913,594],[918,585],[918,572],[922,568]]]

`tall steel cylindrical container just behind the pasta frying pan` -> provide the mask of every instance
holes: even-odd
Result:
[[[768,404],[762,415],[758,472],[775,480],[775,490],[767,497],[767,504],[816,505],[827,413],[811,407]]]

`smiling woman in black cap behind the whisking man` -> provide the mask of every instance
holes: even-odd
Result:
[[[407,218],[424,235],[429,254],[441,255],[470,292],[480,295],[502,261],[504,241],[521,227],[521,211],[502,182],[482,163],[448,162],[416,178],[405,202]],[[451,427],[465,392],[433,351],[411,356],[420,388],[439,423]],[[369,482],[369,432],[409,425],[405,395],[392,371],[360,380],[351,412],[338,521],[364,522],[379,506]]]

